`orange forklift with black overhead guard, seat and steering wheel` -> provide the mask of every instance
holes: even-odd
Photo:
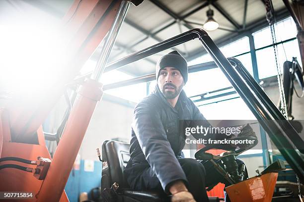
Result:
[[[103,86],[99,79],[103,72],[118,69],[191,40],[200,43],[212,56],[214,64],[223,71],[232,87],[295,171],[299,181],[303,183],[304,141],[242,63],[236,58],[226,58],[203,29],[189,30],[107,63],[128,8],[131,4],[137,6],[141,2],[142,0],[75,0],[63,19],[63,30],[68,33],[63,36],[66,42],[63,51],[66,54],[64,58],[56,58],[60,61],[60,69],[64,70],[58,76],[56,85],[31,92],[25,97],[13,95],[8,106],[0,108],[0,192],[19,193],[8,196],[15,201],[69,201],[64,188],[95,106],[102,99]],[[77,77],[80,68],[102,41],[103,48],[94,71],[85,77]],[[107,88],[135,84],[144,79],[134,78]],[[56,135],[45,135],[42,130],[44,120],[71,86],[76,89],[76,96],[71,110],[67,113],[64,127]],[[60,140],[52,158],[45,144],[46,139]],[[102,154],[99,154],[103,161],[102,200],[169,201],[170,196],[163,196],[162,193],[132,191],[124,185],[122,170],[128,161],[128,149],[128,144],[120,142],[103,143]],[[250,148],[245,150],[248,149]],[[213,155],[206,149],[201,149],[195,157],[213,162],[225,161],[229,167],[234,164],[235,156],[244,151],[227,151],[222,155]],[[216,167],[216,163],[214,165]],[[250,179],[244,179],[242,170],[235,170],[233,166],[230,170],[221,172],[234,182],[227,188],[233,202],[243,202],[244,199],[268,202],[272,200],[277,172],[282,169],[284,165],[277,161]]]

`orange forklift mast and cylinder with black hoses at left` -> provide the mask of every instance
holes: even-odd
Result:
[[[65,85],[73,81],[107,33],[108,38],[112,37],[109,45],[113,44],[117,36],[116,28],[123,22],[129,5],[130,1],[124,0],[75,0],[63,18],[63,30],[67,33],[65,60],[60,64],[60,68],[65,70],[63,75],[60,75],[52,89],[43,89],[22,99],[17,95],[9,106],[0,109],[0,158],[39,158],[35,165],[40,168],[40,172],[37,168],[32,170],[35,178],[30,172],[1,169],[0,191],[33,193],[33,198],[28,201],[69,201],[64,188],[96,103],[103,94],[98,77],[87,79],[79,87],[51,163],[43,159],[51,159],[51,156],[45,145],[41,125],[63,95]],[[15,161],[14,164],[24,165]],[[4,165],[3,161],[0,162],[1,165]]]

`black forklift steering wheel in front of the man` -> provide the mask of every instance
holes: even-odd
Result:
[[[228,155],[237,156],[237,155],[241,154],[242,152],[245,152],[258,144],[257,138],[253,137],[253,136],[235,137],[235,138],[231,138],[229,140],[235,140],[235,141],[252,140],[253,144],[250,144],[247,147],[241,148],[239,150],[236,150],[235,147],[232,147],[230,145],[210,144],[210,145],[207,145],[206,147],[200,149],[199,151],[197,151],[194,156],[196,159],[199,159],[199,160],[210,160],[210,159],[219,160]],[[211,150],[211,149],[221,149],[221,150],[226,150],[228,152],[224,152],[220,155],[213,155],[211,153],[207,153],[207,151]]]

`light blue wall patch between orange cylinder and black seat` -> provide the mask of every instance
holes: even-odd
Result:
[[[70,202],[78,202],[82,192],[89,193],[91,189],[100,187],[102,162],[94,161],[94,171],[83,170],[84,160],[80,161],[80,170],[72,170],[65,191]]]

